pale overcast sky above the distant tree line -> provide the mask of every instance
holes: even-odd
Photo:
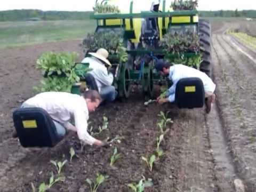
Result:
[[[126,0],[122,0],[126,1]],[[150,0],[138,0],[141,4]],[[43,11],[91,11],[95,0],[2,0],[0,10],[39,9]],[[198,0],[198,10],[256,10],[256,0]]]

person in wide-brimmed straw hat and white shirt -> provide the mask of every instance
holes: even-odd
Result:
[[[89,63],[89,68],[92,69],[89,73],[94,77],[98,86],[98,91],[104,101],[114,101],[117,96],[115,86],[113,86],[113,74],[108,72],[111,68],[111,63],[108,58],[106,49],[99,49],[96,53],[88,53],[90,56],[82,60],[83,63]]]

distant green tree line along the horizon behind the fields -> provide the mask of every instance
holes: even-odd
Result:
[[[0,21],[26,20],[85,20],[89,19],[90,11],[42,11],[42,10],[10,10],[0,11]],[[201,17],[249,17],[256,18],[256,10],[243,11],[199,11]]]

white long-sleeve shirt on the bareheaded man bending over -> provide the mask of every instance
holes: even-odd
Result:
[[[66,92],[44,92],[25,101],[27,105],[43,108],[55,121],[66,129],[77,132],[78,138],[89,145],[96,140],[87,132],[89,111],[83,97]],[[69,123],[74,117],[75,126]]]

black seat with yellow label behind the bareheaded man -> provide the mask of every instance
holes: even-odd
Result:
[[[63,138],[42,108],[19,108],[13,112],[13,122],[23,147],[54,147]]]

